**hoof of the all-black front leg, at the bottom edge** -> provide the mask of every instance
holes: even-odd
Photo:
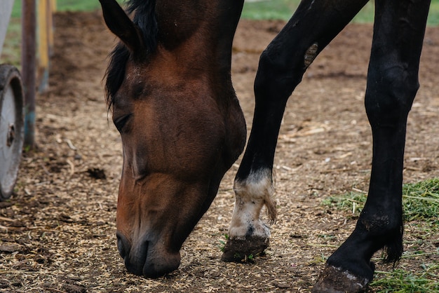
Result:
[[[359,293],[366,292],[370,280],[343,271],[342,268],[326,265],[318,276],[312,293]]]

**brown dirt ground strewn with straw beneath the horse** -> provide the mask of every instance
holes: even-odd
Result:
[[[242,20],[236,33],[232,76],[249,129],[258,57],[282,26]],[[367,191],[372,139],[363,99],[372,25],[346,27],[290,98],[275,160],[278,221],[266,256],[253,264],[219,260],[235,164],[184,243],[180,268],[158,280],[127,273],[116,249],[121,139],[102,86],[114,36],[100,13],[61,13],[55,27],[50,88],[37,100],[38,147],[24,154],[16,191],[0,203],[0,292],[309,292],[356,221],[321,201]],[[408,122],[406,183],[439,176],[438,64],[439,27],[428,28]],[[417,271],[438,262],[438,237],[426,235],[417,249],[428,254],[400,266]],[[377,261],[377,270],[391,271]]]

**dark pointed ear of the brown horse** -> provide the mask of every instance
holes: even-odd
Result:
[[[99,0],[105,23],[113,34],[119,37],[128,49],[135,53],[142,48],[142,38],[134,23],[116,0]]]

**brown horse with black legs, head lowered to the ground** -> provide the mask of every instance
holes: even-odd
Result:
[[[231,85],[231,43],[243,0],[100,0],[121,39],[107,70],[107,102],[123,143],[117,207],[119,252],[128,271],[156,277],[180,264],[180,247],[243,151],[245,121]],[[303,0],[262,53],[255,116],[235,179],[224,261],[262,252],[259,214],[276,209],[272,168],[285,104],[318,53],[367,0]],[[430,0],[377,0],[365,107],[372,175],[356,229],[327,260],[315,292],[360,292],[372,254],[403,252],[402,182],[407,114],[418,84]],[[236,259],[238,256],[238,259]]]

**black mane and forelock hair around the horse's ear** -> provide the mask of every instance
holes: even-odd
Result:
[[[142,33],[142,43],[147,53],[153,52],[157,46],[157,21],[155,14],[156,0],[128,0],[126,1],[128,14],[134,13],[133,22]],[[130,57],[130,50],[118,43],[109,55],[110,61],[105,73],[105,91],[108,108],[114,104],[114,95],[119,90],[125,77],[126,62]]]

